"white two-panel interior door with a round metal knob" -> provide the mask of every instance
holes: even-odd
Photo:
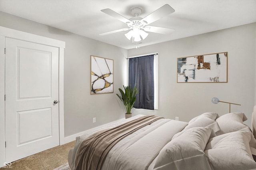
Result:
[[[6,161],[13,162],[59,145],[58,48],[6,38],[5,56]]]

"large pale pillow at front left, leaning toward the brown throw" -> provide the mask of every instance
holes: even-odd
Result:
[[[175,134],[156,157],[154,170],[210,170],[204,148],[212,136],[216,134],[207,127],[190,128]],[[196,166],[191,166],[195,162]]]

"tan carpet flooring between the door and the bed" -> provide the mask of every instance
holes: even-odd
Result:
[[[12,162],[11,166],[4,166],[0,170],[53,170],[68,162],[68,152],[75,143],[76,141],[72,141],[16,160]]]

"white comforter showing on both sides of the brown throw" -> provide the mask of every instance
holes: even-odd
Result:
[[[69,159],[70,168],[74,169],[76,152],[85,138],[98,130],[116,127],[142,116],[143,115],[137,115],[129,120],[126,119],[77,137],[74,150],[71,151],[73,153],[70,153],[72,154]],[[102,170],[152,170],[154,168],[153,161],[160,150],[170,142],[174,134],[180,132],[186,125],[188,125],[188,123],[182,121],[160,119],[151,125],[137,130],[122,139],[110,150]]]

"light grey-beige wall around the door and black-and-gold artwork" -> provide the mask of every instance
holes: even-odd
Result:
[[[126,83],[127,50],[0,12],[0,26],[66,42],[64,130],[70,136],[124,118],[116,97]],[[90,95],[90,55],[114,59],[114,93]],[[96,117],[96,123],[92,118]]]

